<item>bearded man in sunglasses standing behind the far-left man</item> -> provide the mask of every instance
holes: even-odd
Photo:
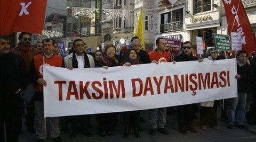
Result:
[[[19,43],[18,47],[12,48],[10,52],[14,54],[20,55],[25,63],[27,68],[29,68],[31,64],[31,60],[34,58],[35,55],[39,54],[39,51],[36,48],[31,47],[31,33],[21,32],[19,34]],[[34,106],[34,97],[30,100],[27,104],[27,116],[26,116],[26,125],[28,132],[35,134],[36,130],[34,128],[35,123],[35,106]]]

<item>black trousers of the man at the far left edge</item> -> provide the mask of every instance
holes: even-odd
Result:
[[[8,94],[6,99],[0,104],[3,112],[0,117],[0,140],[4,141],[4,125],[7,142],[18,142],[21,130],[22,104],[23,100],[19,94]]]

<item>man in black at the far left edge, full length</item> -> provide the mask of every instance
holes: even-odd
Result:
[[[29,83],[21,56],[10,53],[10,38],[0,35],[0,141],[19,141],[23,100],[20,92]],[[5,125],[5,126],[4,126]]]

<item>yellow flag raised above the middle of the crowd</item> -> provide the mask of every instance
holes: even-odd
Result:
[[[140,39],[141,42],[141,49],[145,50],[145,43],[144,43],[144,27],[143,27],[143,8],[141,7],[139,21],[137,24],[137,29],[135,32],[135,36]]]

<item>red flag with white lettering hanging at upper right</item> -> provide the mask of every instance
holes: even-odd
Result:
[[[222,3],[226,12],[229,33],[241,33],[242,49],[247,52],[255,51],[256,40],[242,1],[222,0]]]

